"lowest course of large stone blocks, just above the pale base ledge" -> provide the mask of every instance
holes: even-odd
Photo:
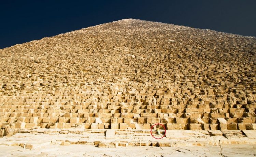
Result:
[[[168,130],[256,130],[255,123],[238,124],[176,124],[160,123],[160,129]],[[85,129],[151,129],[154,124],[132,124],[132,123],[25,123],[18,122],[13,128],[71,128],[73,125],[83,126]],[[163,127],[163,126],[164,127]],[[153,127],[156,129],[156,125]]]

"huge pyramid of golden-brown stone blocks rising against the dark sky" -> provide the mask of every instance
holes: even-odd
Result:
[[[256,130],[255,37],[124,19],[0,49],[0,69],[0,136]]]

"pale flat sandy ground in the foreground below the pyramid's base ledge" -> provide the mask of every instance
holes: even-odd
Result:
[[[9,157],[249,157],[256,156],[256,145],[189,146],[189,147],[118,147],[99,148],[90,145],[47,145],[34,150],[20,146],[0,146],[0,156]]]

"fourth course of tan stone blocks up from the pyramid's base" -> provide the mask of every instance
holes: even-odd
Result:
[[[28,112],[28,113],[49,113],[49,112],[56,112],[60,113],[61,111],[72,111],[72,113],[82,113],[82,112],[99,112],[99,113],[110,113],[112,110],[117,112],[120,111],[127,111],[127,112],[136,112],[137,110],[141,113],[143,112],[155,112],[155,113],[177,113],[177,112],[225,112],[225,113],[241,113],[241,112],[254,112],[256,105],[248,105],[248,106],[238,106],[236,108],[232,108],[231,106],[226,106],[226,108],[188,108],[191,106],[186,106],[185,108],[181,108],[182,106],[155,106],[155,105],[148,105],[148,106],[140,106],[140,105],[133,105],[133,106],[87,106],[84,108],[83,106],[0,106],[0,112]],[[47,108],[45,108],[47,107]],[[223,106],[224,107],[224,106]]]

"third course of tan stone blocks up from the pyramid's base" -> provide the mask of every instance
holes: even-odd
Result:
[[[51,121],[56,121],[58,119],[65,118],[80,118],[79,122],[83,122],[88,118],[101,118],[105,122],[113,118],[129,118],[129,119],[147,119],[156,123],[162,121],[170,121],[173,123],[174,120],[182,119],[184,122],[200,117],[207,123],[210,119],[216,118],[226,118],[231,122],[241,121],[244,118],[251,118],[251,122],[254,123],[256,114],[254,112],[244,112],[244,113],[4,113],[0,112],[0,122],[16,122],[21,120],[24,117],[38,117],[40,119],[39,123],[42,120],[51,119]],[[165,119],[163,119],[165,118]],[[67,121],[66,119],[65,121]],[[28,121],[28,120],[27,120]],[[165,123],[165,122],[164,122]]]

